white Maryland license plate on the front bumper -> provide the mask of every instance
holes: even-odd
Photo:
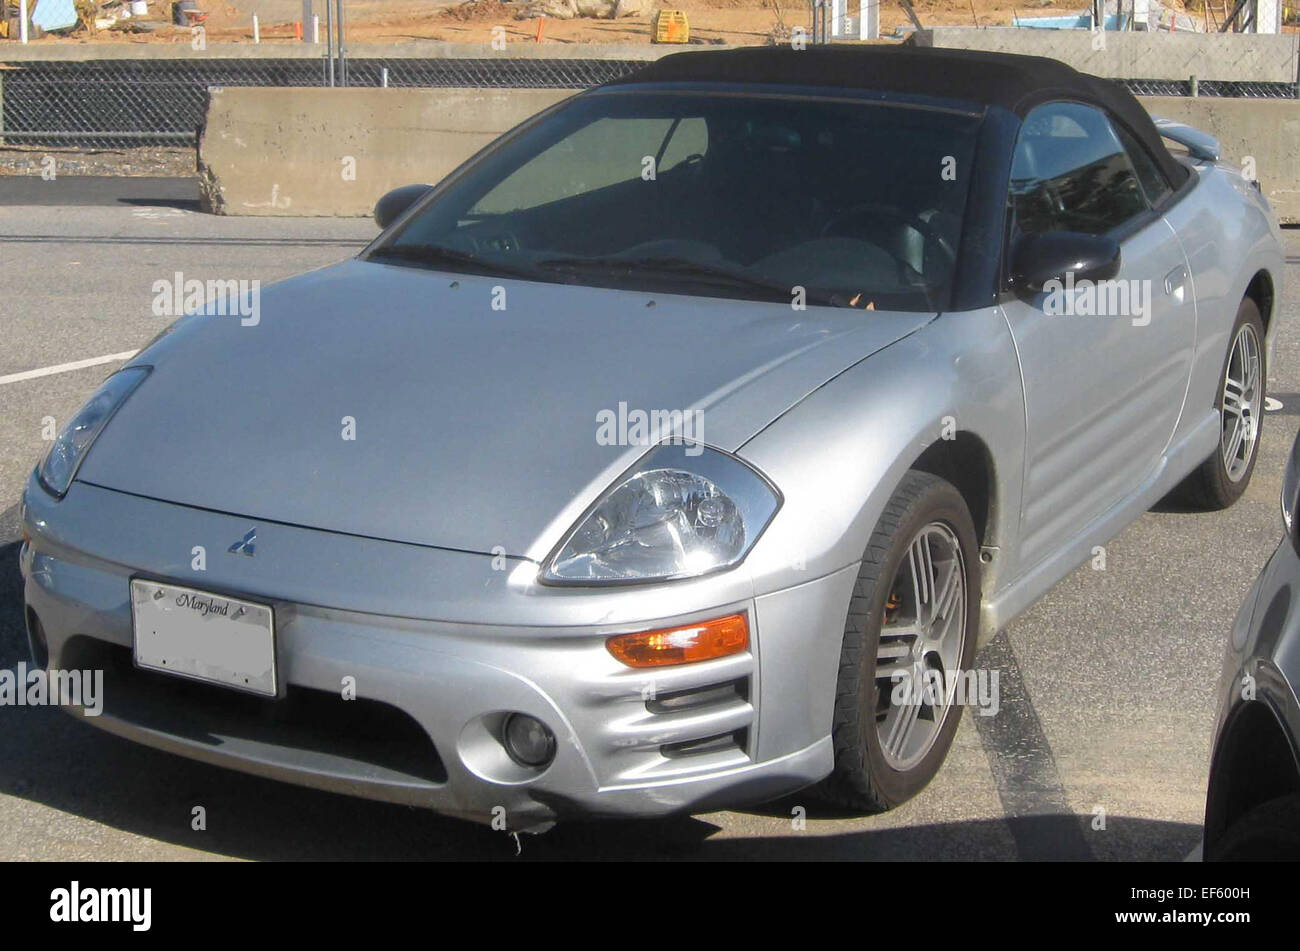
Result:
[[[135,665],[276,695],[276,616],[266,604],[131,581]]]

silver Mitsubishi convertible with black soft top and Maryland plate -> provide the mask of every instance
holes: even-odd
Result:
[[[1251,478],[1283,255],[1216,160],[1049,60],[664,57],[112,374],[26,486],[31,650],[510,829],[902,803],[983,640]]]

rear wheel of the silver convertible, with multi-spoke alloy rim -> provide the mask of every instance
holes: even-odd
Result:
[[[1179,486],[1184,501],[1201,509],[1227,508],[1251,485],[1264,425],[1268,366],[1260,308],[1245,298],[1236,311],[1223,373],[1219,377],[1219,446]]]

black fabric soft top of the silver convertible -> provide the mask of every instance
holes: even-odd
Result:
[[[1187,170],[1128,90],[1057,60],[932,47],[745,47],[664,56],[607,86],[763,83],[876,90],[997,105],[1017,116],[1053,99],[1098,105],[1141,142],[1175,184]]]

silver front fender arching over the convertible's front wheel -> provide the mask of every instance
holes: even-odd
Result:
[[[870,316],[864,316],[870,320]],[[954,431],[993,463],[985,595],[1014,568],[1024,456],[1024,395],[997,308],[944,314],[819,387],[740,455],[785,504],[748,565],[755,594],[862,560],[880,513],[927,447]]]

